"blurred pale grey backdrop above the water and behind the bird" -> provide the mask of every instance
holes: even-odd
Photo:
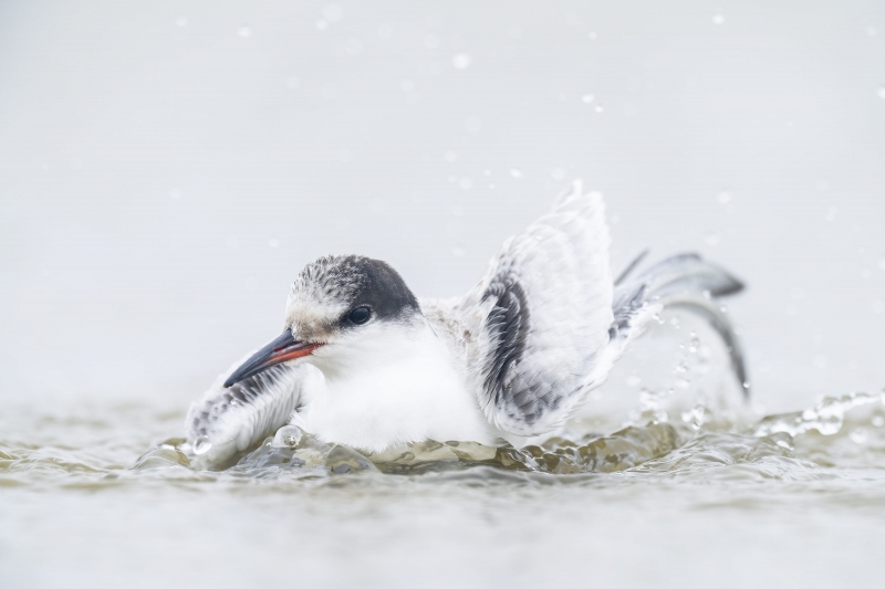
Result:
[[[459,294],[577,177],[769,410],[885,385],[885,2],[0,0],[2,398],[184,412],[304,263]]]

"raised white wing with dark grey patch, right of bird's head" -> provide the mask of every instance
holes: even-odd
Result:
[[[516,435],[561,425],[595,378],[608,343],[612,274],[602,194],[581,183],[507,240],[461,301],[475,314],[473,376],[489,421]]]

